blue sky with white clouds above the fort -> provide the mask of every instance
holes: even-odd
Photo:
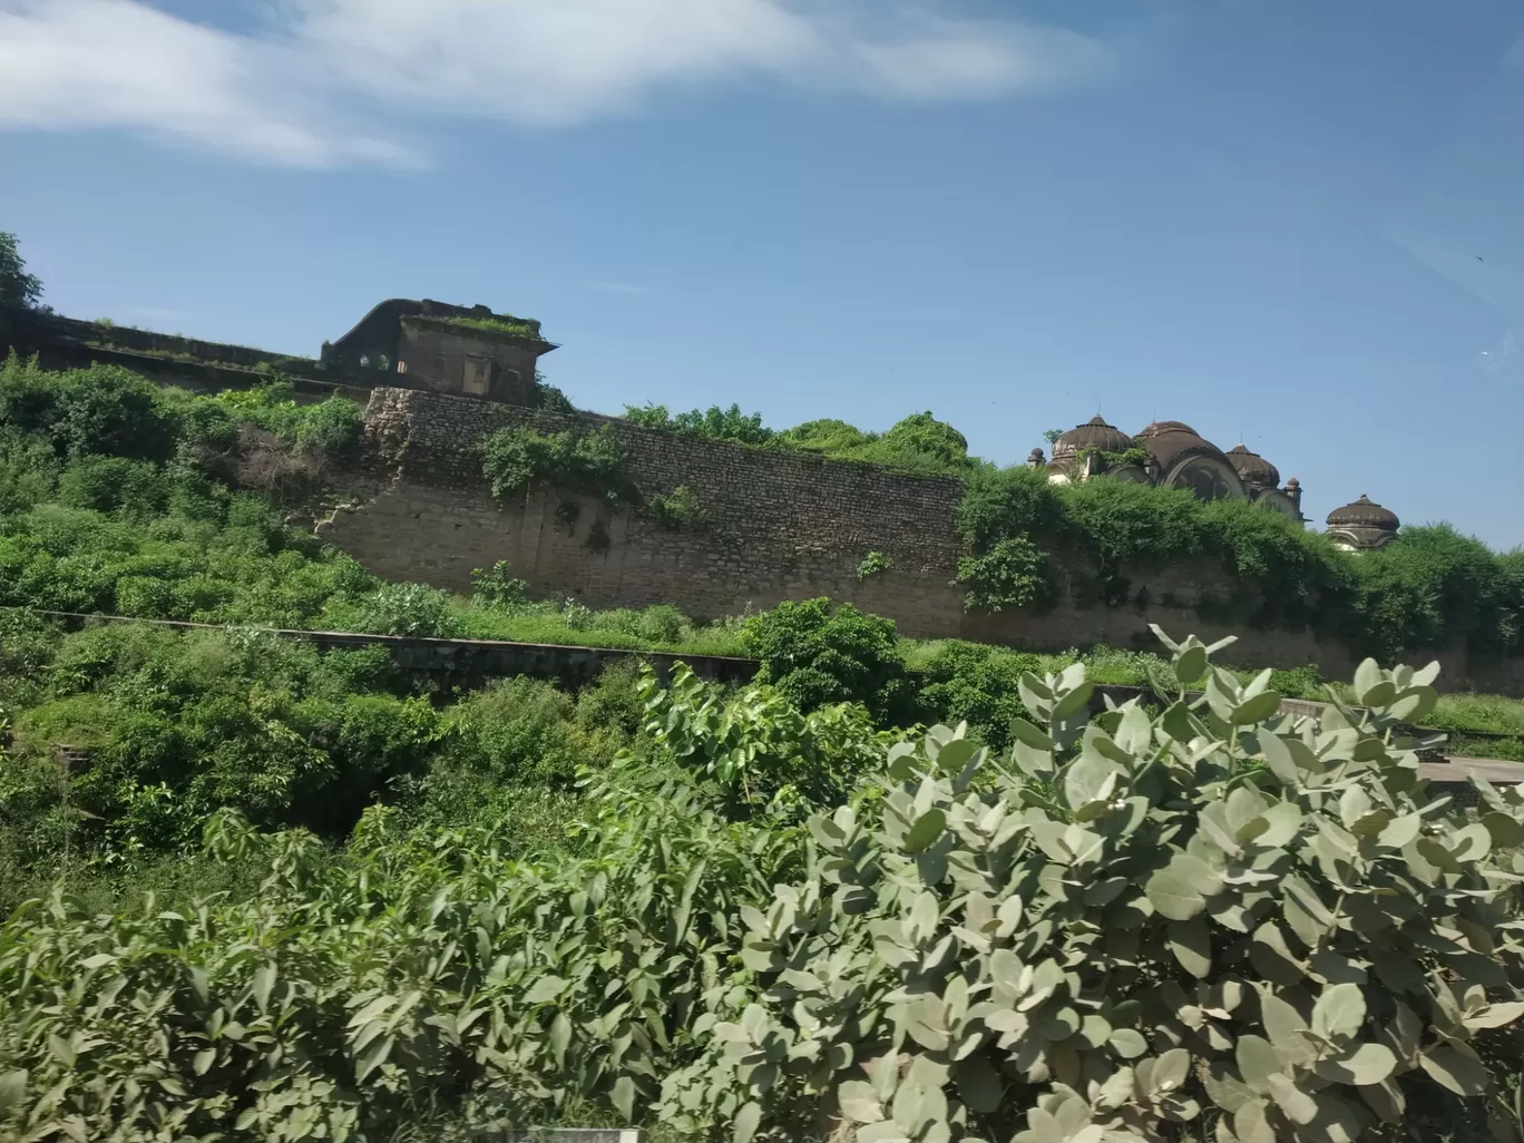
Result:
[[[427,14],[427,15],[422,15]],[[538,317],[588,408],[1183,419],[1524,543],[1515,0],[0,0],[62,312]],[[1480,259],[1480,261],[1478,261]]]

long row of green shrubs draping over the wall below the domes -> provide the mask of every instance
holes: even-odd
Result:
[[[1192,565],[1221,570],[1218,611],[1256,626],[1311,626],[1384,657],[1462,642],[1524,651],[1524,552],[1498,555],[1446,526],[1408,527],[1352,556],[1250,501],[1117,480],[1052,485],[1027,466],[972,471],[956,523],[966,553],[956,582],[974,611],[1044,607],[1064,584],[1082,604],[1146,602],[1129,575]]]

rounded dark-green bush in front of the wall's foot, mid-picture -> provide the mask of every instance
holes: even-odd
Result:
[[[741,645],[762,660],[757,681],[774,684],[802,710],[861,703],[879,722],[904,718],[910,680],[895,623],[829,599],[783,600],[747,620]]]

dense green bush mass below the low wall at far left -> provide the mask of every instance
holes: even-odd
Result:
[[[439,735],[379,648],[320,655],[259,632],[107,625],[34,642],[26,666],[0,779],[23,867],[64,849],[107,864],[172,850],[224,806],[343,837]],[[61,776],[59,747],[87,764]]]

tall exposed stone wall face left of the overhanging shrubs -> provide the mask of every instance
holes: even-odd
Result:
[[[366,411],[367,479],[319,532],[390,579],[466,590],[471,568],[506,559],[541,596],[591,607],[677,604],[701,616],[829,594],[892,616],[907,634],[946,636],[963,620],[949,587],[957,561],[954,480],[873,465],[747,450],[611,424],[629,474],[649,497],[687,485],[710,524],[671,532],[640,509],[533,488],[495,504],[471,443],[535,413],[469,398],[379,389]],[[541,415],[543,416],[543,415]],[[568,419],[570,422],[570,419]],[[575,503],[575,524],[558,509]],[[895,562],[860,582],[872,550]]]

